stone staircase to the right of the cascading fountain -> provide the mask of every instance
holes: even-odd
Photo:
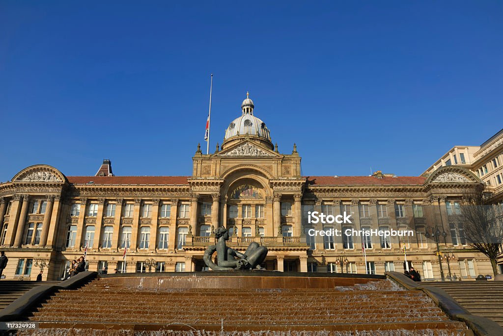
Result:
[[[503,326],[503,281],[422,282],[442,288],[473,315]]]

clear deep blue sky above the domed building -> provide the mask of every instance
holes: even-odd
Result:
[[[247,90],[304,175],[418,175],[503,128],[503,3],[0,2],[0,181],[190,175]]]

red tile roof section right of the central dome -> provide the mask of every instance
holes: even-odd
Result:
[[[310,185],[423,185],[426,177],[398,176],[377,178],[373,176],[307,176]]]

